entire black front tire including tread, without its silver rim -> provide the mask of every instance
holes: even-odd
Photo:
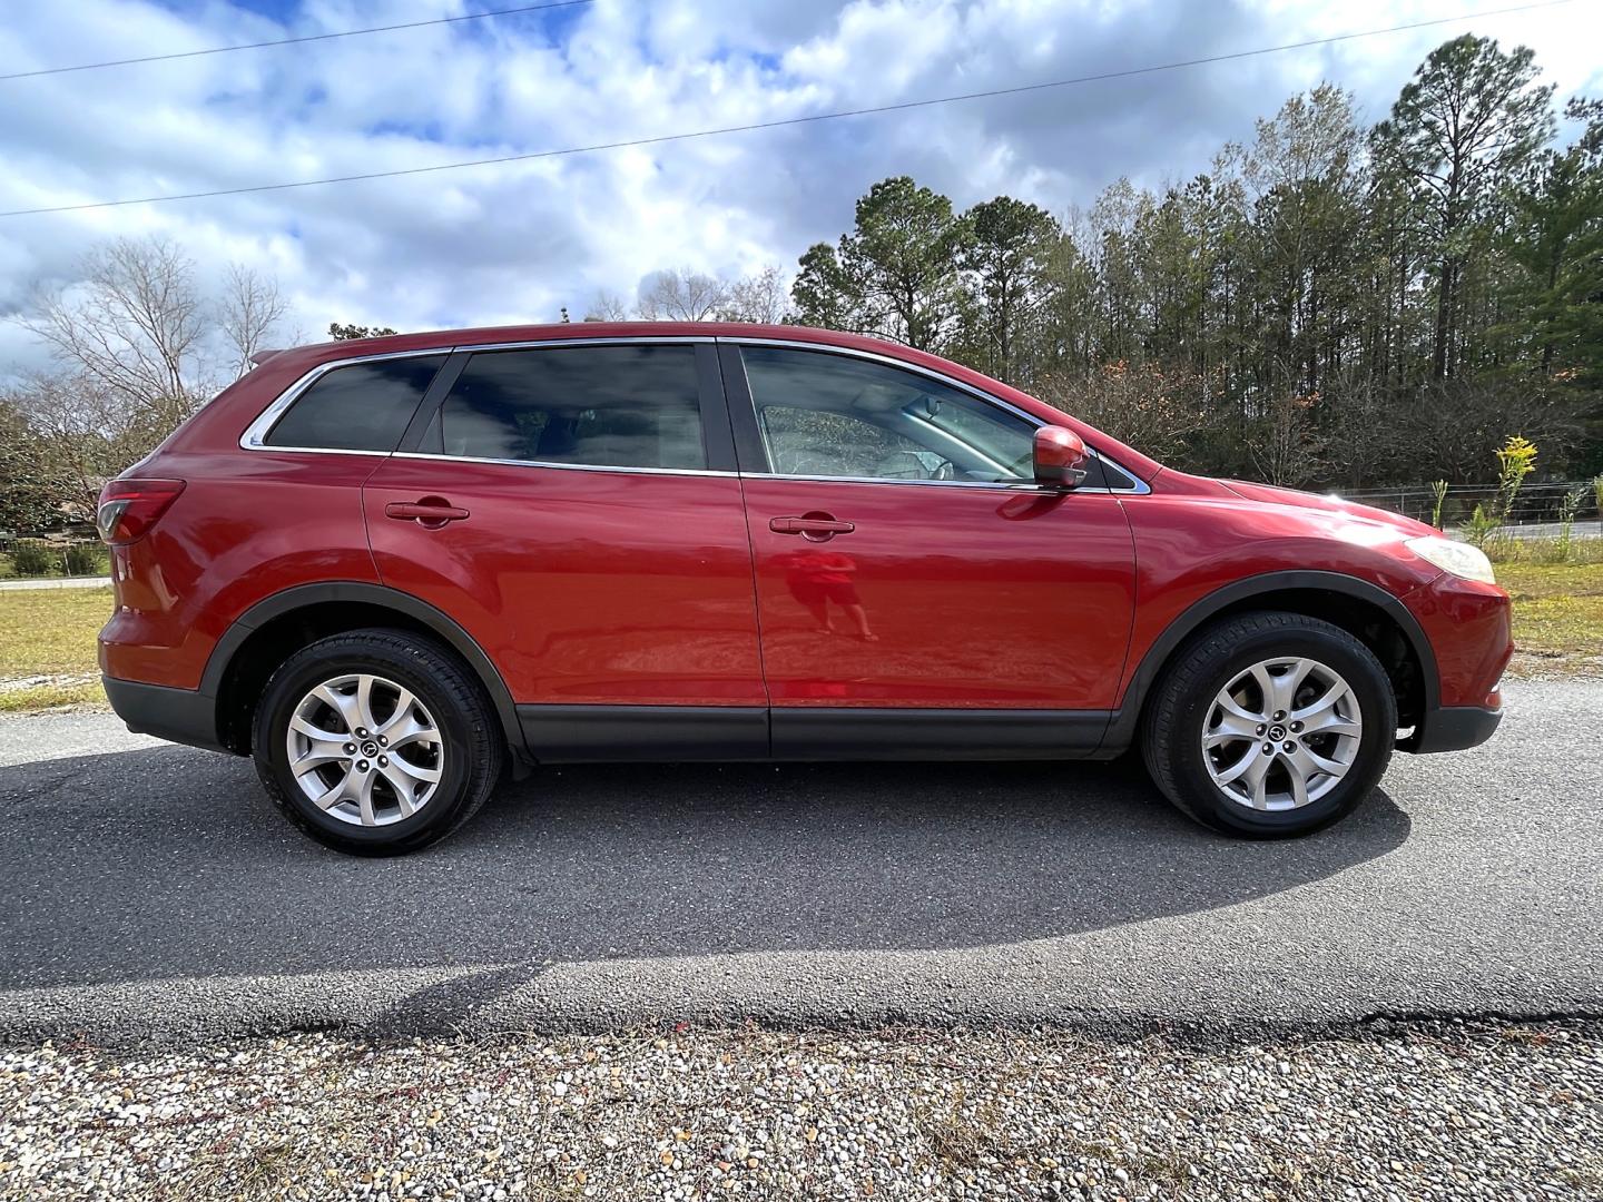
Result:
[[[1300,655],[1340,673],[1358,697],[1363,731],[1334,789],[1295,809],[1262,811],[1228,798],[1204,761],[1213,699],[1265,659]],[[1350,814],[1380,780],[1396,742],[1396,697],[1374,652],[1340,627],[1302,614],[1225,619],[1181,647],[1146,707],[1141,755],[1164,797],[1205,827],[1244,838],[1295,838]]]

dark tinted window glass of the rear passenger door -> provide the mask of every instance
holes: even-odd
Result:
[[[696,348],[684,345],[483,351],[462,369],[436,426],[430,439],[446,455],[707,466]]]

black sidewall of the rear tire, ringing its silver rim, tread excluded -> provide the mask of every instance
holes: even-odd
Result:
[[[301,792],[289,764],[285,736],[295,707],[317,684],[353,673],[385,676],[410,689],[446,739],[446,768],[428,803],[412,817],[382,827],[359,827],[325,814]],[[428,675],[422,662],[398,655],[388,647],[373,646],[330,654],[311,646],[292,655],[268,683],[256,713],[253,747],[258,769],[264,777],[271,777],[277,792],[276,800],[290,817],[319,841],[341,851],[393,854],[433,841],[434,832],[449,829],[471,795],[473,732],[468,716]]]

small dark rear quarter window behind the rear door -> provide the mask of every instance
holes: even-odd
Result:
[[[268,433],[269,447],[394,450],[442,354],[335,367],[313,381]]]

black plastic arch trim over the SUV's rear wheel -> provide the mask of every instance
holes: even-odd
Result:
[[[245,644],[245,639],[248,639],[256,630],[274,619],[293,614],[297,609],[306,609],[309,606],[327,603],[359,603],[380,606],[383,609],[394,609],[415,622],[420,622],[430,631],[438,635],[468,662],[468,667],[484,686],[484,691],[491,697],[491,704],[495,707],[495,716],[500,720],[502,731],[507,736],[507,745],[513,752],[513,756],[516,760],[526,758],[527,753],[524,748],[523,726],[518,723],[518,710],[513,705],[511,691],[507,688],[507,681],[502,680],[500,670],[491,657],[484,654],[474,638],[463,630],[455,619],[426,601],[415,598],[410,593],[402,593],[399,588],[367,583],[362,580],[330,580],[311,585],[295,585],[293,588],[273,593],[271,596],[266,596],[253,604],[234,619],[234,623],[223,631],[223,638],[220,638],[216,646],[212,647],[212,655],[207,659],[205,672],[200,676],[200,694],[213,700],[221,697],[223,681],[228,676],[228,668],[232,664],[234,655]]]

